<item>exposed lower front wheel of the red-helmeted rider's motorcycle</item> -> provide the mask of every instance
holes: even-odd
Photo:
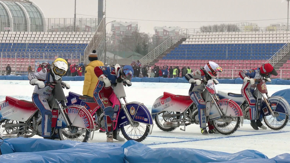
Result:
[[[263,118],[264,118],[266,125],[270,129],[279,130],[279,129],[282,129],[286,126],[286,124],[289,120],[289,115],[284,114],[284,113],[278,113],[278,112],[274,111],[274,116],[272,116],[272,114],[270,114],[268,116],[264,116]]]

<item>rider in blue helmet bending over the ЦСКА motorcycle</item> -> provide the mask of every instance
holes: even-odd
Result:
[[[93,96],[105,114],[104,120],[107,133],[107,142],[113,142],[113,138],[119,141],[125,141],[125,139],[119,135],[120,130],[114,131],[113,135],[112,120],[114,116],[114,109],[108,98],[113,93],[113,88],[111,85],[116,85],[117,82],[124,83],[128,86],[132,85],[130,81],[132,75],[134,74],[133,68],[128,65],[120,67],[116,64],[115,67],[98,66],[95,67],[94,71],[99,81],[96,85]]]

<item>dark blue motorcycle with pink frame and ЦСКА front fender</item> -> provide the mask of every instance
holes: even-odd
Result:
[[[139,102],[127,102],[123,83],[117,83],[116,86],[113,85],[113,90],[109,101],[112,102],[114,107],[114,131],[115,129],[121,129],[124,138],[127,140],[143,141],[148,134],[151,134],[153,129],[153,119],[150,111],[144,104]],[[85,107],[93,117],[95,130],[105,131],[104,113],[93,97],[69,92],[66,99],[68,106],[77,104]],[[123,99],[124,103],[121,99]],[[91,139],[93,139],[93,136],[94,132]]]

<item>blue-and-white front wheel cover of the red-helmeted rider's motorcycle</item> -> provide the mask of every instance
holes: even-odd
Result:
[[[290,114],[290,110],[289,110],[290,105],[285,100],[285,98],[281,96],[272,96],[268,98],[268,101],[270,102],[270,107],[272,108],[273,111],[278,112],[278,113],[288,114],[288,115]],[[265,101],[262,102],[261,113],[263,116],[268,116],[271,114]]]

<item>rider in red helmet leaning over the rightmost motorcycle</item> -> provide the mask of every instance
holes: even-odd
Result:
[[[249,113],[251,126],[253,129],[258,130],[260,128],[267,129],[261,122],[263,120],[263,116],[260,115],[260,110],[256,108],[256,99],[253,96],[253,92],[255,91],[257,85],[255,83],[255,79],[266,79],[268,82],[271,82],[270,75],[278,75],[276,70],[270,63],[263,64],[260,68],[243,70],[239,73],[240,77],[243,79],[243,86],[241,89],[242,95],[246,98],[249,103]]]

